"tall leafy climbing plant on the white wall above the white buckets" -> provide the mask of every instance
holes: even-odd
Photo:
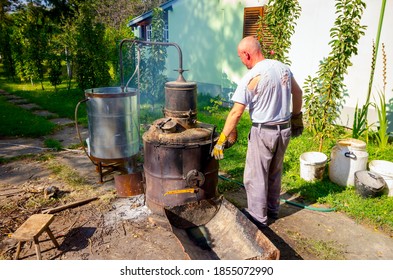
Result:
[[[350,58],[357,54],[357,44],[364,35],[360,20],[366,4],[361,0],[336,0],[337,18],[330,30],[331,51],[317,72],[308,76],[304,84],[305,117],[322,151],[326,138],[332,138],[335,121],[340,115],[346,87],[344,75],[352,65]]]

